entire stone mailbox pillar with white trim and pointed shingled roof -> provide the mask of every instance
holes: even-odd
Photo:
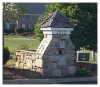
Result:
[[[76,73],[76,55],[70,40],[72,24],[55,11],[42,24],[44,39],[36,53],[33,70],[43,76],[71,76]]]

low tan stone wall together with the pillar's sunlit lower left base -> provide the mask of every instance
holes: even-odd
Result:
[[[42,63],[42,59],[38,59],[34,51],[20,50],[16,52],[16,68],[30,69],[42,75]]]

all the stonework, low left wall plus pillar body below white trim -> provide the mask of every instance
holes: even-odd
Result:
[[[65,39],[66,46],[59,55],[59,40]],[[76,73],[76,55],[68,35],[47,35],[36,52],[17,51],[16,67],[31,69],[43,76],[71,76]]]

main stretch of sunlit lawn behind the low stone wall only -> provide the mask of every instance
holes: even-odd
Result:
[[[4,45],[9,48],[10,52],[16,51],[17,48],[21,45],[27,45],[31,49],[37,49],[39,44],[40,41],[38,39],[25,39],[25,38],[4,36]]]

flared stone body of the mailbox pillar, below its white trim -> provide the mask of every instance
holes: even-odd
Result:
[[[65,40],[65,48],[59,41]],[[60,54],[59,52],[62,52]],[[36,51],[36,67],[41,67],[43,76],[69,76],[76,73],[76,56],[69,35],[47,35]]]

